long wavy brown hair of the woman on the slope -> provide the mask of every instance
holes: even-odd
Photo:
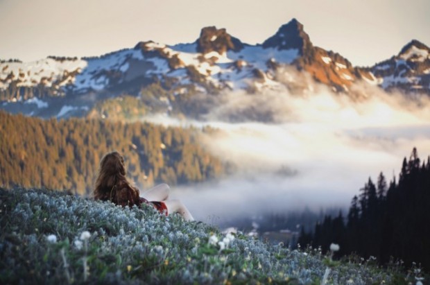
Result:
[[[114,188],[123,182],[128,184],[123,157],[117,151],[107,153],[100,161],[94,199],[112,200],[112,194],[116,191]]]

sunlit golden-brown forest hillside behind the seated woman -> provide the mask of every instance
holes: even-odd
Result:
[[[212,132],[204,129],[203,132]],[[92,192],[100,159],[125,158],[139,187],[218,178],[225,164],[198,144],[202,130],[92,119],[42,120],[0,111],[0,184]]]

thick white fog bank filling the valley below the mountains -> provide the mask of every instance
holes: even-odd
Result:
[[[345,208],[369,177],[375,181],[382,171],[387,180],[398,178],[413,147],[424,159],[430,155],[427,99],[365,84],[350,87],[359,94],[351,99],[305,79],[297,83],[307,86],[300,92],[219,95],[200,121],[148,118],[218,128],[203,137],[203,146],[238,167],[236,175],[218,182],[175,187],[173,197],[206,222],[304,207]]]

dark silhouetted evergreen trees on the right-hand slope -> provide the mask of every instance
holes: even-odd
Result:
[[[380,173],[376,184],[369,178],[352,198],[347,217],[325,216],[313,233],[302,230],[299,243],[327,251],[338,243],[340,256],[356,253],[376,257],[380,264],[391,259],[430,270],[430,157],[421,164],[417,149],[402,163],[399,182],[388,184]]]

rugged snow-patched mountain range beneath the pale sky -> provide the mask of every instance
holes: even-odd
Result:
[[[198,107],[190,103],[196,94],[252,94],[285,87],[309,91],[309,85],[291,74],[352,97],[361,96],[350,90],[354,83],[430,95],[430,49],[412,40],[388,60],[354,67],[342,55],[314,46],[296,19],[255,45],[241,42],[225,28],[209,26],[188,44],[148,41],[93,58],[1,60],[0,108],[44,118],[105,117],[105,102],[128,94],[139,98],[130,104],[141,104],[143,112],[187,115]]]

